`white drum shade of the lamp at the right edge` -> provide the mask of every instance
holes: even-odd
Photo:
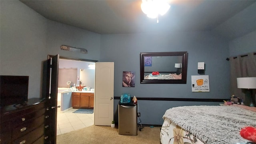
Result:
[[[237,88],[256,89],[256,77],[236,78]]]

